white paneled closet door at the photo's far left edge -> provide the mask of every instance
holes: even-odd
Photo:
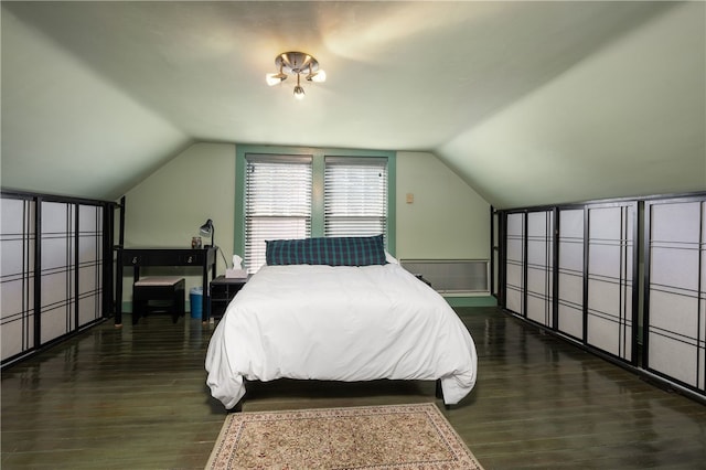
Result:
[[[34,201],[0,200],[0,342],[2,361],[34,344]]]

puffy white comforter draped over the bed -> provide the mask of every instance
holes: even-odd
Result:
[[[446,404],[475,384],[475,345],[431,288],[397,264],[264,266],[216,327],[206,384],[226,408],[244,378],[441,380]]]

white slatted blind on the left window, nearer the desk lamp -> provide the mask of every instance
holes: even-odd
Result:
[[[309,156],[246,156],[245,266],[265,264],[265,241],[311,236]]]

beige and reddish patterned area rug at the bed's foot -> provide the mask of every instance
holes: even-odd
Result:
[[[206,469],[479,469],[432,403],[233,413]]]

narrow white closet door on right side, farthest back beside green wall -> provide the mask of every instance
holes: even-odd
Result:
[[[505,308],[524,316],[525,214],[507,214],[505,253]]]

